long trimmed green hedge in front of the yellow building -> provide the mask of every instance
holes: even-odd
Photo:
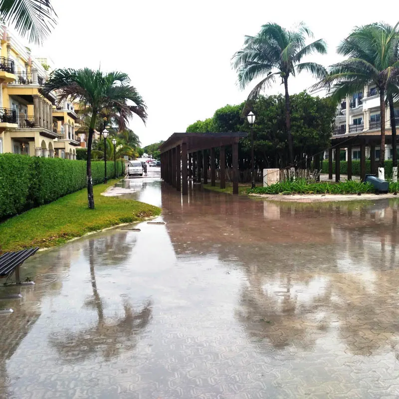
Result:
[[[93,184],[104,181],[104,162],[91,164]],[[117,176],[125,171],[118,160]],[[107,164],[107,177],[114,177],[114,163]],[[38,158],[0,154],[0,219],[54,201],[86,187],[86,162],[61,158]]]

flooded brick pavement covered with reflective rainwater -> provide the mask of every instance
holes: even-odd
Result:
[[[158,221],[38,253],[1,300],[0,398],[398,398],[398,201],[124,183]],[[119,194],[120,194],[119,193]]]

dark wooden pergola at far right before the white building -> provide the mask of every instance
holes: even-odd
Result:
[[[380,134],[353,134],[334,136],[331,139],[331,148],[328,154],[328,178],[333,178],[333,151],[335,151],[335,181],[340,181],[340,150],[341,148],[348,149],[348,180],[352,180],[352,148],[360,147],[360,179],[363,182],[366,177],[366,146],[370,146],[370,169],[371,173],[375,175],[377,173],[376,163],[376,146],[381,143]],[[385,143],[392,144],[392,136],[385,136]]]

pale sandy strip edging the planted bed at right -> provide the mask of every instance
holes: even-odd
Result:
[[[280,194],[249,194],[252,197],[267,198],[273,201],[294,201],[294,202],[332,202],[332,201],[359,201],[359,200],[382,200],[385,198],[398,198],[393,194],[294,194],[294,195],[280,195]]]

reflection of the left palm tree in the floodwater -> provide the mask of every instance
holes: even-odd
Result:
[[[112,242],[115,235],[107,238]],[[106,246],[107,243],[109,244],[109,240],[106,241]],[[95,241],[91,239],[89,240],[89,265],[93,298],[86,301],[85,305],[96,309],[97,324],[77,333],[67,332],[61,338],[54,336],[50,339],[59,354],[68,360],[73,358],[74,361],[83,361],[91,354],[96,353],[100,353],[105,360],[109,360],[121,351],[133,350],[137,345],[137,335],[145,329],[151,320],[151,300],[148,300],[139,312],[135,312],[132,305],[125,300],[123,304],[125,315],[116,321],[104,315],[104,303],[97,289],[95,275],[96,253],[98,253],[98,248],[95,248]]]

